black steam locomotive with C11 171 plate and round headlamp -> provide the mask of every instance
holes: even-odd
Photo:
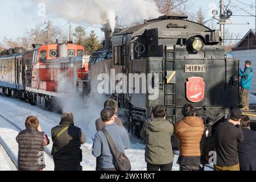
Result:
[[[160,16],[113,36],[103,30],[105,47],[89,62],[91,91],[100,89],[118,100],[130,132],[151,117],[156,105],[165,106],[175,123],[183,118],[183,105],[190,103],[206,125],[224,121],[239,105],[238,60],[226,57],[218,30],[187,18]]]

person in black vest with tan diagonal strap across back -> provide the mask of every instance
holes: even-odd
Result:
[[[86,142],[86,138],[82,130],[74,126],[73,119],[71,112],[63,113],[60,125],[51,131],[55,171],[82,171],[80,146]]]

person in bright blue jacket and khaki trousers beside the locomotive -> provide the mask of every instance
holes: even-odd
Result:
[[[253,68],[250,61],[245,61],[245,70],[240,68],[240,104],[241,110],[249,110],[249,90],[251,88],[251,80],[253,78]]]

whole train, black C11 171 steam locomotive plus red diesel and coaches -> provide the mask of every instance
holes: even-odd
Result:
[[[104,48],[90,56],[76,44],[34,45],[0,53],[0,93],[48,110],[60,110],[60,77],[81,94],[114,98],[139,135],[152,107],[163,105],[168,119],[183,118],[192,104],[205,125],[228,118],[239,103],[239,61],[228,59],[220,32],[188,16],[160,16],[125,30],[102,28]],[[89,70],[88,70],[89,67]],[[60,99],[61,100],[61,99]]]

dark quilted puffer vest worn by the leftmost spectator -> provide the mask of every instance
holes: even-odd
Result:
[[[19,144],[19,171],[40,171],[46,167],[44,162],[44,134],[31,127],[20,131],[16,137]]]

